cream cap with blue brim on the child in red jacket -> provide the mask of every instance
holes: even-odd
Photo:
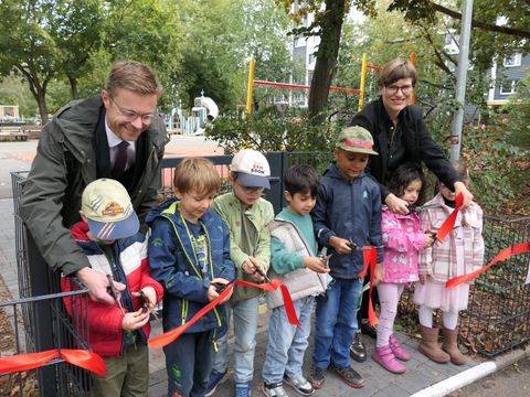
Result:
[[[92,234],[98,239],[134,236],[140,227],[127,190],[112,179],[98,179],[85,187],[81,211]]]

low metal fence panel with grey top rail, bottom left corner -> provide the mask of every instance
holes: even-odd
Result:
[[[75,283],[74,280],[70,280]],[[2,315],[11,325],[11,334],[2,355],[38,353],[51,348],[88,350],[87,289],[74,287],[72,292],[53,293],[34,298],[17,299],[0,303]],[[63,299],[70,300],[73,320],[65,311]],[[51,313],[45,323],[38,321],[41,312]],[[39,334],[46,328],[52,331],[52,344],[47,347]],[[12,337],[11,337],[12,336]],[[62,358],[54,358],[34,371],[2,375],[2,396],[86,396],[89,377]]]

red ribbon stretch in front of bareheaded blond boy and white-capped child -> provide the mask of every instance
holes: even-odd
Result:
[[[293,305],[293,300],[290,298],[289,290],[282,281],[274,279],[274,280],[271,280],[271,282],[258,285],[254,282],[243,281],[243,280],[235,280],[233,283],[229,285],[229,287],[226,287],[226,289],[223,292],[221,292],[221,294],[216,299],[214,299],[213,301],[208,303],[204,308],[199,310],[190,321],[183,323],[180,326],[177,326],[171,331],[165,332],[161,335],[151,337],[149,340],[149,346],[153,348],[159,348],[173,342],[186,330],[188,330],[191,325],[198,322],[204,314],[206,314],[210,310],[212,310],[218,304],[220,304],[221,301],[224,298],[226,298],[230,294],[230,292],[233,290],[234,285],[245,286],[245,287],[255,287],[255,288],[263,289],[265,291],[275,291],[279,287],[282,289],[282,296],[284,297],[285,311],[287,312],[287,319],[289,320],[289,323],[292,323],[293,325],[300,325],[300,322],[296,316],[296,311],[295,311],[295,307]]]

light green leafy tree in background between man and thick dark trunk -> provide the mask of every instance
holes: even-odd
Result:
[[[181,0],[178,9],[187,32],[178,79],[184,106],[202,89],[222,109],[244,104],[251,56],[261,79],[288,76],[288,19],[273,0]]]

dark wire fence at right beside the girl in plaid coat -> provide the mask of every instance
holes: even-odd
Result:
[[[499,250],[530,240],[530,217],[486,216],[483,236],[486,265]],[[530,285],[524,285],[529,264],[530,254],[516,255],[492,266],[470,286],[468,308],[459,316],[460,342],[470,352],[492,357],[530,341]],[[406,290],[400,303],[406,329],[417,324],[413,294],[413,289]]]

